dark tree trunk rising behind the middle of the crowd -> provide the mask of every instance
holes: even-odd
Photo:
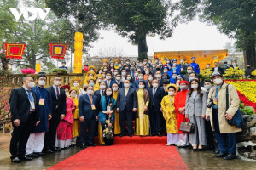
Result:
[[[143,61],[143,59],[148,59],[148,45],[147,45],[147,35],[143,35],[138,38],[137,48],[138,48],[138,60]]]

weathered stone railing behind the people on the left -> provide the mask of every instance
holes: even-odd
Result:
[[[51,74],[46,74],[47,76],[47,82],[45,87],[49,87],[53,85],[53,79],[57,74],[51,73]],[[71,85],[71,80],[74,77],[80,77],[82,80],[82,83],[84,83],[84,77],[85,73],[69,73],[66,75],[60,75],[61,76],[61,85],[68,84]],[[34,82],[36,82],[38,74],[32,74],[29,75],[34,79]],[[14,74],[14,75],[9,75],[9,77],[0,77],[0,82],[6,82],[8,81],[9,84],[13,84],[16,87],[22,86],[22,77],[24,77],[24,74]]]

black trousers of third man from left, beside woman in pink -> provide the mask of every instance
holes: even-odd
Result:
[[[49,132],[45,133],[44,136],[44,148],[55,147],[56,133],[60,121],[61,116],[53,116],[49,120]]]

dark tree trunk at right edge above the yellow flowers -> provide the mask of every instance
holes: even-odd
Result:
[[[256,67],[255,35],[253,31],[251,31],[247,37],[247,43],[245,44],[245,48],[243,50],[243,56],[245,66],[250,64],[252,67]]]

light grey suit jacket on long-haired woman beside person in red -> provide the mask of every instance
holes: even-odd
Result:
[[[185,114],[189,116],[206,115],[207,110],[207,94],[202,91],[202,96],[197,94],[195,98],[187,96]]]

